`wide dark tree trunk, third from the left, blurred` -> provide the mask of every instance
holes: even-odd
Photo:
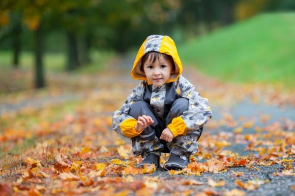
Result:
[[[67,31],[67,41],[68,41],[67,71],[72,71],[77,69],[80,65],[76,35],[70,31]]]

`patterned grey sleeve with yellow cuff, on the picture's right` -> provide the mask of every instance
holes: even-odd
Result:
[[[200,128],[212,117],[208,99],[202,98],[195,91],[194,85],[182,75],[179,76],[177,92],[179,92],[182,98],[189,100],[189,105],[187,111],[183,112],[181,116],[174,118],[167,126],[173,133],[173,137],[201,131]]]

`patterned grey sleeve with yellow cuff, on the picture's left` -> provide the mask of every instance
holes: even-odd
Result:
[[[124,137],[133,138],[141,133],[135,130],[137,120],[129,116],[128,113],[133,103],[143,99],[144,90],[145,83],[143,81],[133,89],[126,101],[113,113],[113,129]]]

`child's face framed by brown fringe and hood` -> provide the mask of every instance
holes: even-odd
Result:
[[[162,56],[156,59],[154,63],[148,58],[144,64],[144,72],[149,83],[154,86],[162,86],[169,80],[171,73],[173,73],[172,64]]]

